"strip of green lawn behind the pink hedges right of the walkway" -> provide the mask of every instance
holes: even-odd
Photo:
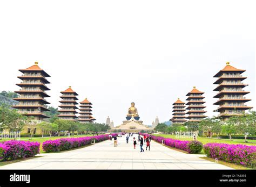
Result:
[[[153,134],[156,136],[163,136],[164,138],[172,138],[177,140],[193,140],[193,138],[176,138],[176,135],[171,134]],[[247,140],[248,143],[245,143],[243,139],[233,139],[232,141],[229,139],[217,139],[217,138],[205,138],[205,137],[197,137],[197,140],[206,143],[230,143],[230,144],[244,144],[248,146],[256,146],[256,140]]]

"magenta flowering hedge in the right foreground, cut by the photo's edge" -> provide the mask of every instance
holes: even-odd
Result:
[[[213,159],[217,158],[247,167],[255,167],[256,146],[207,143],[203,149],[205,154]]]

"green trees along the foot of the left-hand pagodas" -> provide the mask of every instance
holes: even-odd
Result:
[[[51,110],[55,110],[53,107]],[[98,123],[87,123],[81,124],[76,121],[63,120],[56,117],[56,114],[52,116],[49,120],[42,121],[42,123],[34,124],[34,117],[26,117],[21,113],[18,113],[16,109],[11,109],[9,105],[2,104],[0,105],[0,131],[8,130],[9,132],[21,132],[26,125],[30,128],[30,138],[33,136],[33,132],[36,129],[40,129],[42,131],[42,136],[44,134],[53,134],[53,132],[57,133],[59,136],[62,132],[68,131],[71,135],[75,134],[86,134],[88,132],[99,133],[106,132],[110,130],[110,126],[106,124],[98,124]]]

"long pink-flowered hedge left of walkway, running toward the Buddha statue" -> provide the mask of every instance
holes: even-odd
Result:
[[[111,134],[116,136],[117,133]],[[80,138],[61,138],[57,140],[47,140],[43,142],[43,150],[46,153],[49,152],[60,152],[62,150],[68,150],[76,147],[85,146],[91,144],[93,140],[100,142],[109,139],[109,135],[97,135],[97,136],[86,136]]]

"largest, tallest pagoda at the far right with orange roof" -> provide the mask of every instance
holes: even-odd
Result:
[[[213,77],[218,78],[213,84],[218,84],[213,91],[218,91],[214,98],[219,98],[214,105],[219,105],[217,110],[219,117],[226,121],[231,116],[241,115],[251,106],[245,105],[251,99],[246,99],[244,95],[250,93],[243,90],[247,84],[242,83],[247,77],[242,76],[245,70],[234,68],[230,62],[226,63],[224,69],[220,70]]]

